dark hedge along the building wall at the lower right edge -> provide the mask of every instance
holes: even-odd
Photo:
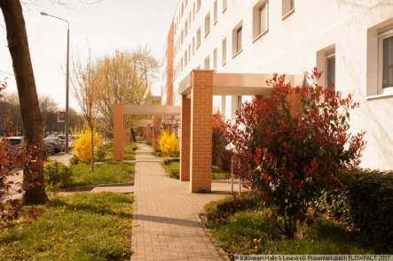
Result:
[[[346,189],[325,192],[320,211],[350,222],[380,249],[393,249],[393,172],[358,169],[344,180]]]

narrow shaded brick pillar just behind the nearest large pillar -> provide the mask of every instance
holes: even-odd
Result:
[[[182,96],[180,132],[180,180],[190,181],[191,99],[186,96]]]

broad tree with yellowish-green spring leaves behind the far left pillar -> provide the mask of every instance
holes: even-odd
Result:
[[[151,51],[139,48],[134,51],[115,50],[114,56],[98,58],[97,89],[99,124],[106,134],[113,136],[114,104],[150,104],[151,84],[157,79],[159,62]],[[130,131],[133,123],[141,116],[127,115],[125,128]]]

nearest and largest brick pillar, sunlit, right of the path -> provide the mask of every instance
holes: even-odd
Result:
[[[190,187],[191,192],[210,192],[213,71],[193,70],[192,79]]]

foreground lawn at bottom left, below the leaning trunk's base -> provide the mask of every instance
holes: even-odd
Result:
[[[133,197],[52,196],[39,219],[3,228],[1,260],[130,260]]]

